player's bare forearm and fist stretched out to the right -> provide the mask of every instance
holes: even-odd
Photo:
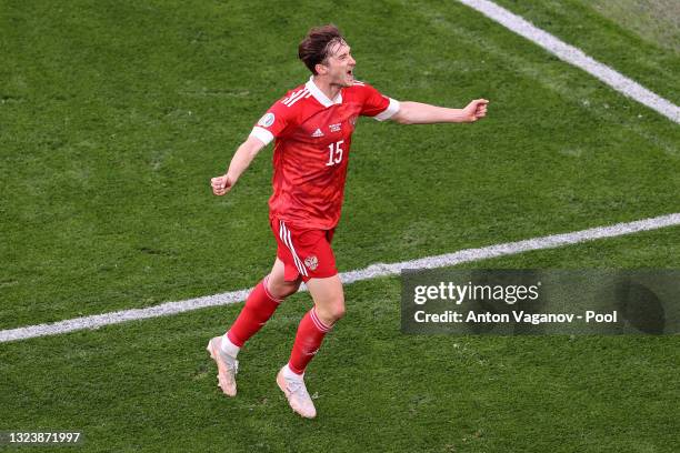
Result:
[[[400,102],[390,119],[401,124],[430,124],[440,122],[474,122],[487,115],[486,99],[476,99],[463,109],[448,109],[420,102]]]

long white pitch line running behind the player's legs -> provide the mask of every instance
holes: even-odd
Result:
[[[661,215],[652,219],[638,220],[628,223],[617,223],[611,226],[599,226],[571,233],[552,234],[533,238],[519,242],[489,245],[480,249],[467,249],[454,253],[437,256],[426,256],[419,260],[402,261],[391,264],[371,264],[366,269],[342,272],[340,279],[349,284],[362,280],[380,276],[397,275],[403,269],[436,269],[452,266],[472,261],[488,260],[490,258],[511,255],[531,250],[554,249],[579,242],[593,241],[603,238],[616,238],[641,231],[658,230],[667,226],[680,225],[680,213]],[[302,288],[304,291],[304,288]],[[167,316],[183,313],[207,306],[228,305],[243,301],[250,290],[239,290],[222,294],[207,295],[179,302],[167,302],[148,309],[123,310],[92,316],[74,318],[52,324],[28,325],[24,328],[0,331],[0,343],[26,340],[36,336],[57,335],[83,329],[97,329],[103,325],[118,324],[126,321],[144,320],[149,318]]]

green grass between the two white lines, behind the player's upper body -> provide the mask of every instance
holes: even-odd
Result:
[[[6,3],[2,27],[3,329],[241,289],[267,272],[271,150],[229,197],[208,181],[307,79],[297,42],[327,20],[346,29],[360,78],[397,99],[492,101],[474,125],[362,121],[341,270],[678,208],[676,124],[454,2],[314,2],[294,24],[264,3],[22,4]],[[644,59],[634,43],[627,54]]]

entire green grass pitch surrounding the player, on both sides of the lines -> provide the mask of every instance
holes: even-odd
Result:
[[[536,23],[678,101],[677,78],[646,71],[678,72],[661,47],[586,7],[506,6],[531,20],[537,11],[552,23],[587,21],[597,48]],[[271,151],[227,198],[210,194],[209,178],[270,103],[307,79],[296,46],[330,20],[346,31],[359,78],[387,94],[492,101],[474,125],[361,122],[334,242],[341,270],[678,211],[676,124],[456,2],[309,2],[294,20],[269,3],[2,8],[0,329],[261,278],[274,244]],[[476,265],[678,266],[678,232]],[[354,441],[376,451],[670,451],[677,339],[404,338],[398,291],[396,280],[348,288],[348,318],[310,370],[324,414],[312,425],[272,385],[300,296],[243,355],[234,402],[217,393],[203,343],[238,306],[2,344],[0,429],[81,427],[91,450],[279,451],[300,439],[300,451]],[[231,411],[244,420],[236,432]]]

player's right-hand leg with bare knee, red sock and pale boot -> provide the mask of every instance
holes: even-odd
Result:
[[[307,288],[312,295],[314,306],[300,321],[290,360],[279,371],[277,383],[286,393],[293,411],[311,419],[317,415],[317,410],[304,385],[304,370],[319,351],[326,334],[344,314],[344,295],[337,274],[310,279]]]

